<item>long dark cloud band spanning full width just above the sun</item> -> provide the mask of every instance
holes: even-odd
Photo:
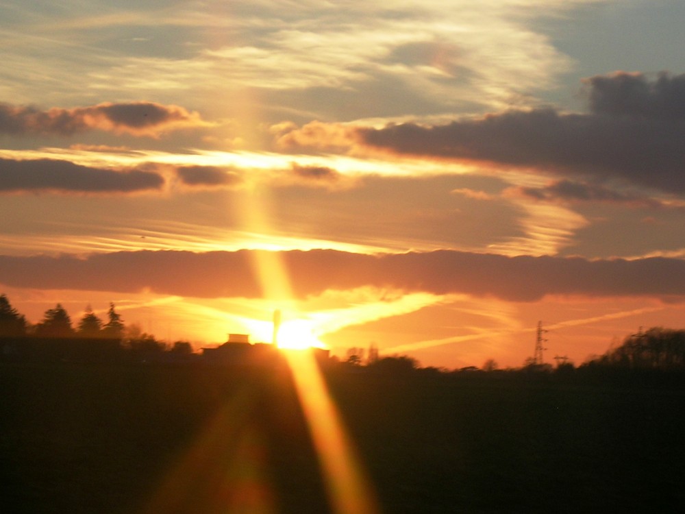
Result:
[[[333,250],[282,252],[298,297],[360,286],[466,293],[530,302],[545,295],[685,297],[685,260],[586,260],[437,251],[369,256]],[[195,297],[261,297],[255,252],[116,252],[0,256],[0,283],[38,289]]]

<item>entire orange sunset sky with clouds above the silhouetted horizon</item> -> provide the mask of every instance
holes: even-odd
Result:
[[[0,293],[423,366],[685,319],[685,3],[0,1]]]

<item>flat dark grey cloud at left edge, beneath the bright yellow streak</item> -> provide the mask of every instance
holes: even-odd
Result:
[[[134,193],[160,190],[163,186],[164,178],[151,171],[114,171],[66,160],[0,158],[0,193]]]

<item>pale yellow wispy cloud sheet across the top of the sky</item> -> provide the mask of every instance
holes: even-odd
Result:
[[[7,92],[22,93],[19,85],[40,69],[53,90],[81,102],[94,92],[159,99],[184,91],[197,106],[208,94],[249,89],[266,93],[268,106],[286,94],[293,110],[304,109],[306,98],[349,91],[373,98],[363,116],[379,117],[531,105],[573,65],[532,23],[540,7],[545,16],[562,16],[588,3],[597,1],[354,1],[344,9],[323,1],[159,9],[67,2],[50,13],[15,5],[8,58],[32,65],[5,72],[14,84]],[[113,39],[113,29],[136,45]],[[80,100],[64,69],[83,77]],[[32,88],[37,95],[40,88]],[[310,111],[323,119],[337,112],[331,101]]]

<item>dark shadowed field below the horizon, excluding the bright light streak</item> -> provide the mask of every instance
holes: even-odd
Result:
[[[327,380],[384,513],[676,512],[680,376]],[[0,367],[2,513],[327,513],[288,373]]]

